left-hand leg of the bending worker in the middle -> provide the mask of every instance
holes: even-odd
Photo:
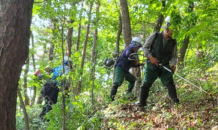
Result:
[[[124,72],[122,71],[122,69],[118,66],[115,67],[115,78],[114,78],[114,83],[113,86],[111,88],[111,99],[112,101],[114,101],[114,97],[117,93],[117,89],[119,86],[122,85],[124,80]]]

